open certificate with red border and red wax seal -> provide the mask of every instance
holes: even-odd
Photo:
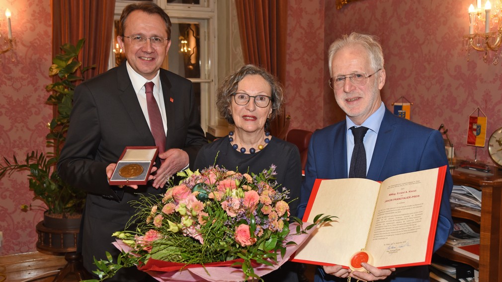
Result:
[[[382,183],[317,179],[303,221],[321,213],[338,218],[314,231],[293,260],[352,269],[360,262],[380,268],[430,264],[446,169]]]

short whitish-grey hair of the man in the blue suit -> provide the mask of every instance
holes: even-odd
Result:
[[[373,71],[384,68],[384,53],[382,45],[380,45],[379,38],[373,35],[351,33],[350,35],[343,35],[341,38],[331,43],[328,50],[328,67],[329,75],[333,76],[331,70],[331,63],[336,52],[340,51],[343,47],[359,45],[368,52],[369,60]]]

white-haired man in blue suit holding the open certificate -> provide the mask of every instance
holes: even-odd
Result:
[[[344,36],[330,46],[328,57],[332,76],[330,86],[346,118],[317,130],[310,139],[305,181],[298,206],[300,218],[305,212],[315,179],[365,177],[383,181],[398,174],[448,165],[439,131],[397,117],[386,109],[380,95],[386,79],[384,56],[380,43],[374,37],[357,33]],[[361,137],[364,145],[362,151],[365,153],[362,176],[357,176],[357,172],[351,169],[353,163],[359,162],[357,157],[352,158],[353,151],[358,154],[361,152],[360,145],[354,150],[355,144],[360,144],[354,140],[358,127],[366,127]],[[452,231],[449,204],[452,187],[453,181],[448,171],[434,251],[445,243]],[[336,252],[336,249],[329,251]],[[347,277],[365,281],[429,281],[427,265],[379,269],[363,263],[363,267],[367,271],[350,271],[340,265],[319,267],[315,281],[346,281]]]

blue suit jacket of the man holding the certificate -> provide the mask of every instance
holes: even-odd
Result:
[[[433,169],[448,165],[441,133],[386,109],[380,125],[374,153],[366,178],[384,181],[398,174]],[[305,180],[302,184],[298,216],[303,217],[315,179],[347,178],[346,121],[340,121],[312,134],[308,150]],[[452,231],[450,194],[453,181],[447,170],[441,208],[434,240],[434,251],[441,247]],[[331,250],[336,252],[335,250]],[[429,281],[427,266],[398,269],[389,281]],[[341,280],[346,280],[341,279]],[[341,281],[340,280],[340,281]],[[337,281],[324,271],[316,273],[316,281]]]

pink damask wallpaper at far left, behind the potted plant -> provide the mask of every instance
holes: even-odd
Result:
[[[0,49],[7,36],[5,10],[12,12],[12,33],[17,40],[12,52],[0,55],[0,156],[24,160],[33,150],[45,151],[46,123],[52,108],[44,102],[45,85],[51,83],[51,4],[50,0],[0,0]],[[0,179],[0,231],[4,243],[0,255],[35,251],[35,226],[42,211],[22,212],[22,204],[32,203],[27,173]],[[33,204],[40,204],[39,201]]]

